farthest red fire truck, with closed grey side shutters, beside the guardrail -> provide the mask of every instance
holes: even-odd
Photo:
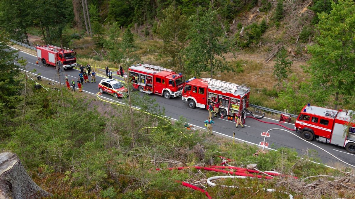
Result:
[[[75,52],[66,47],[53,45],[37,45],[37,58],[44,66],[56,66],[57,62],[63,64],[64,69],[76,66]]]

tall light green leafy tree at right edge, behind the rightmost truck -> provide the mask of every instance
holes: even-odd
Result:
[[[312,78],[313,90],[334,96],[334,109],[344,94],[355,91],[355,3],[339,0],[332,11],[318,14],[317,44],[308,46],[312,54],[306,72]]]

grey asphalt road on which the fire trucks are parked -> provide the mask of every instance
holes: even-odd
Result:
[[[54,80],[58,82],[58,76],[56,75],[54,67],[44,67],[42,64],[36,64],[37,57],[29,55],[24,52],[18,52],[19,57],[23,57],[27,59],[27,71],[36,69],[35,74],[40,74],[40,76],[48,78],[49,80]],[[103,71],[103,70],[102,70]],[[75,82],[78,78],[78,70],[69,69],[65,70],[65,73],[69,75],[69,80],[75,79]],[[88,83],[83,85],[83,91],[91,94],[96,94],[98,92],[98,83],[101,79],[104,79],[104,76],[97,76],[96,83]],[[114,75],[114,78],[121,79],[118,75]],[[89,80],[91,77],[89,76]],[[63,82],[63,79],[61,80]],[[139,91],[134,91],[139,92]],[[140,93],[140,95],[146,95],[144,93]],[[102,96],[113,99],[112,96],[108,94],[103,94]],[[162,96],[153,95],[153,98],[156,99],[157,103],[159,103],[160,108],[165,107],[165,115],[170,116],[173,119],[179,119],[180,116],[184,116],[187,121],[194,125],[204,127],[203,121],[205,121],[208,117],[208,111],[201,108],[191,109],[187,106],[186,103],[182,102],[181,97],[165,99]],[[263,118],[263,121],[277,123],[277,120]],[[234,121],[228,121],[227,119],[214,118],[215,124],[213,125],[213,130],[215,135],[223,135],[229,136],[233,139],[233,131],[235,131],[235,137],[242,141],[246,141],[253,144],[259,144],[259,142],[263,141],[263,137],[260,135],[261,132],[268,131],[269,129],[279,128],[283,129],[281,126],[274,124],[266,124],[260,121],[254,120],[252,118],[246,118],[245,127],[244,128],[235,128]],[[294,125],[284,123],[286,127],[294,129]],[[286,129],[285,129],[286,130]],[[345,165],[341,163],[339,160],[335,159],[331,155],[327,154],[321,149],[318,149],[315,146],[305,142],[299,136],[299,133],[295,131],[291,131],[295,133],[297,136],[292,135],[289,132],[283,130],[272,130],[270,131],[271,136],[266,138],[266,142],[269,143],[269,146],[272,146],[273,149],[277,149],[280,147],[289,147],[294,148],[297,153],[299,153],[300,157],[305,153],[307,149],[315,149],[318,154],[317,158],[319,158],[323,164],[326,165]],[[338,147],[332,144],[326,144],[318,141],[313,141],[313,144],[327,150],[329,153],[335,155],[337,158],[351,164],[355,165],[355,155],[346,152],[345,148]]]

